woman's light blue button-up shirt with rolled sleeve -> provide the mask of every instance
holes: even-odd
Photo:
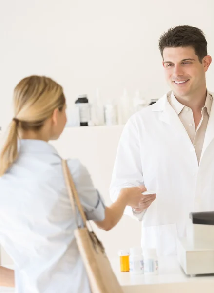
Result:
[[[105,206],[79,160],[69,160],[86,215]],[[15,263],[16,293],[89,293],[74,238],[75,218],[61,158],[50,144],[21,140],[17,161],[0,178],[0,244]]]

